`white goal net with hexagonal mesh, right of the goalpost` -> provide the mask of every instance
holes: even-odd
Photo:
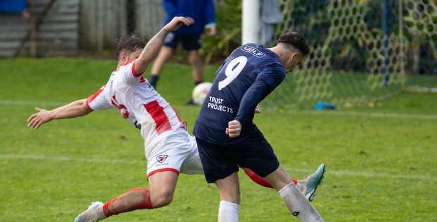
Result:
[[[435,77],[435,1],[282,0],[281,4],[284,22],[276,35],[300,30],[311,53],[276,92],[275,103],[367,103],[400,92],[410,74]],[[427,66],[418,63],[416,72],[410,73],[407,55],[417,45],[416,51],[426,46],[432,52],[426,58],[419,52],[416,59]]]

